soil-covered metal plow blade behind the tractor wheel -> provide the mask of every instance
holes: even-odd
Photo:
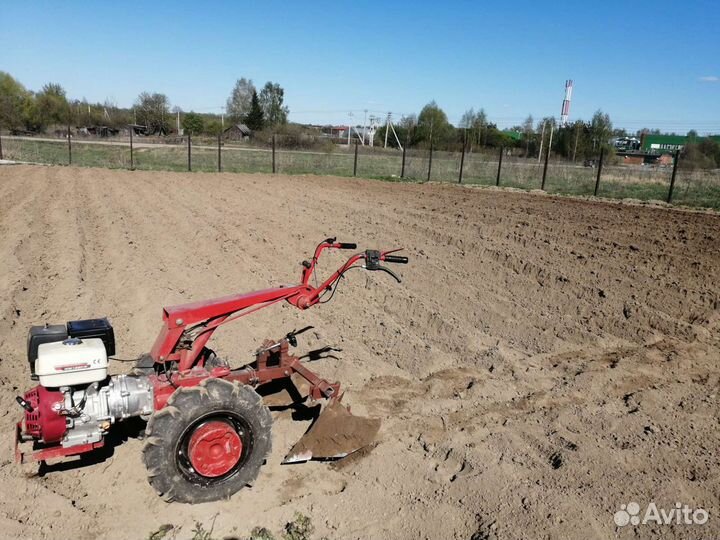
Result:
[[[342,404],[331,403],[293,446],[283,463],[343,458],[372,444],[379,429],[379,418],[353,416]]]

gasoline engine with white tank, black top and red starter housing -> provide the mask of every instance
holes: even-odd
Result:
[[[25,409],[23,440],[64,449],[98,445],[115,422],[153,412],[145,376],[107,376],[115,354],[107,319],[33,326],[28,335],[30,372],[39,385],[17,397]]]

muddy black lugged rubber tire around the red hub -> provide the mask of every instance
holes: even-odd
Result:
[[[245,437],[243,455],[221,478],[200,477],[183,465],[184,441],[204,419],[232,417]],[[227,499],[251,484],[271,450],[270,411],[250,386],[209,378],[180,387],[147,424],[143,460],[150,484],[166,501],[201,503]],[[195,476],[193,476],[195,475]]]

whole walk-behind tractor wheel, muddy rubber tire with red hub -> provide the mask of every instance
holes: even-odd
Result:
[[[249,386],[210,378],[178,388],[147,424],[150,484],[168,502],[227,499],[257,478],[270,453],[271,425]]]

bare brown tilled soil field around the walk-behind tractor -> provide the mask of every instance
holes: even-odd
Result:
[[[108,316],[118,356],[161,308],[292,283],[328,236],[404,246],[395,284],[348,274],[333,301],[274,306],[218,332],[235,366],[306,324],[305,352],[382,419],[369,453],[283,466],[307,428],[274,417],[257,483],[165,503],[142,441],[42,475],[12,461],[32,324]],[[344,252],[328,257],[337,266]],[[437,184],[334,177],[0,168],[0,537],[142,539],[279,531],[316,538],[720,536],[720,217]],[[129,364],[113,366],[115,372]],[[616,527],[621,504],[676,502],[704,525]]]

